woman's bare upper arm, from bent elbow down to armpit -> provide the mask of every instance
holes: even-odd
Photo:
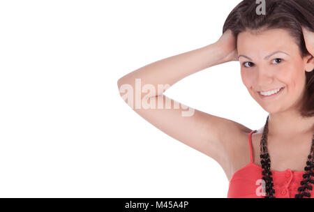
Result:
[[[251,132],[251,129],[230,119],[214,116],[192,107],[186,108],[186,105],[182,105],[186,109],[182,109],[183,107],[168,109],[168,103],[171,105],[180,103],[163,94],[147,99],[147,105],[159,103],[159,100],[162,100],[162,107],[158,104],[158,108],[134,110],[170,137],[216,160],[227,176],[230,176],[232,162],[236,158],[234,155],[239,153],[239,146],[244,143],[244,137],[246,133]],[[183,112],[191,113],[183,116]]]

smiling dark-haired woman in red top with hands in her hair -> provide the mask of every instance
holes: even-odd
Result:
[[[227,197],[314,198],[314,0],[265,2],[265,15],[258,15],[255,0],[241,1],[216,43],[121,77],[120,95],[132,103],[128,105],[160,103],[157,109],[133,109],[167,135],[216,160],[230,180]],[[241,63],[242,82],[269,113],[260,130],[190,107],[183,107],[193,111],[183,116],[182,107],[173,108],[177,102],[158,89],[229,61]],[[138,79],[143,89],[136,86]],[[142,94],[148,90],[154,92]],[[133,98],[135,92],[138,98]]]

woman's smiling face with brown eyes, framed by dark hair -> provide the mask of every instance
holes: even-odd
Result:
[[[313,70],[313,58],[311,55],[302,58],[297,43],[285,29],[239,33],[237,51],[242,82],[267,112],[299,106],[305,91],[305,71]],[[271,98],[260,96],[259,91],[281,87],[284,89]]]

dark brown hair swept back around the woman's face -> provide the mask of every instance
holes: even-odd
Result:
[[[301,56],[308,54],[301,26],[314,31],[314,0],[265,0],[265,15],[257,15],[255,0],[241,1],[228,15],[223,33],[231,29],[237,38],[246,30],[286,29],[294,38]],[[299,107],[301,116],[314,116],[314,70],[306,72],[306,92]]]

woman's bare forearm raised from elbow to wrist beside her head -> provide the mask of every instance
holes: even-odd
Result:
[[[154,96],[158,96],[165,92],[166,89],[169,89],[169,87],[164,87],[165,89],[160,91],[160,89],[158,89],[158,84],[169,84],[172,86],[188,75],[224,63],[224,59],[225,54],[220,50],[219,45],[213,43],[197,50],[170,56],[166,59],[150,63],[147,66],[134,70],[124,77],[121,77],[118,80],[118,86],[120,87],[123,84],[130,84],[135,88],[135,79],[140,79],[142,86],[144,84],[154,86],[156,91],[156,95]]]

